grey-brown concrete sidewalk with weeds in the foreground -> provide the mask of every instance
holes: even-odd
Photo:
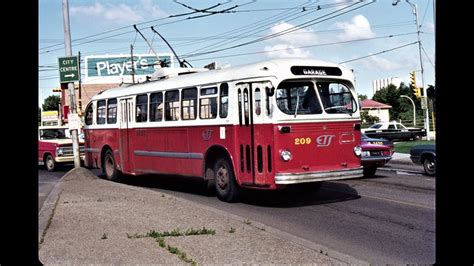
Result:
[[[43,264],[367,265],[244,217],[69,171],[39,213]]]

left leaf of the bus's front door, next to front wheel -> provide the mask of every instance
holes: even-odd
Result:
[[[236,129],[236,142],[238,158],[235,160],[235,175],[243,185],[254,185],[253,178],[253,152],[251,132],[251,90],[250,84],[241,83],[236,85],[237,108],[239,113],[239,124]]]

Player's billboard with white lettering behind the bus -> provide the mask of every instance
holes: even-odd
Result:
[[[137,54],[133,60],[130,55],[86,56],[86,78],[145,76],[152,75],[160,65],[173,67],[171,54],[158,54],[158,58],[154,54]]]

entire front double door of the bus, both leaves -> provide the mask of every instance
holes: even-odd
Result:
[[[265,88],[270,82],[240,83],[236,85],[239,125],[237,126],[238,163],[235,173],[241,184],[269,186],[272,171],[272,127],[265,124],[269,112],[266,108]]]

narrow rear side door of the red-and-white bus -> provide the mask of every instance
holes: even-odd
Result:
[[[121,171],[130,172],[129,125],[133,119],[133,98],[120,100],[120,127],[119,127],[119,153]]]

